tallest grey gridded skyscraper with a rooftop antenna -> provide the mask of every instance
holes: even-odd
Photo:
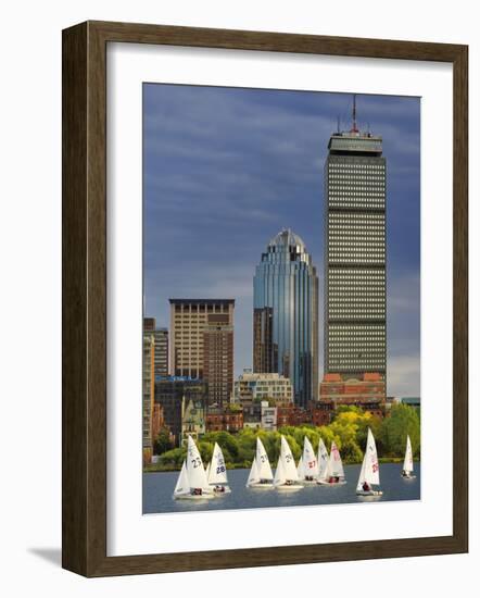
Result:
[[[334,133],[325,163],[325,373],[387,374],[382,138]]]

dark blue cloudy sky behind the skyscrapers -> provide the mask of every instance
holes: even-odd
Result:
[[[255,265],[282,227],[312,253],[320,285],[323,169],[352,96],[144,84],[146,315],[169,297],[235,298],[236,374],[252,365]],[[388,171],[389,395],[420,393],[420,100],[357,96],[361,128],[383,137]]]

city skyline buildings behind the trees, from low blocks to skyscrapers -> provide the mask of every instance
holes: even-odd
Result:
[[[386,159],[381,137],[349,132],[325,163],[324,378],[316,266],[282,229],[253,279],[253,370],[233,379],[233,299],[170,299],[170,326],[143,326],[146,460],[164,426],[186,434],[329,423],[341,404],[387,409]]]

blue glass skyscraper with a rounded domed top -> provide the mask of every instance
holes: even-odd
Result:
[[[294,402],[318,398],[318,277],[303,240],[281,231],[253,279],[255,372],[290,378]]]

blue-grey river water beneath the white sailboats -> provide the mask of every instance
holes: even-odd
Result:
[[[211,500],[173,500],[179,472],[143,473],[143,513],[212,511],[218,509],[258,509],[261,507],[295,507],[349,502],[419,500],[421,466],[415,463],[415,479],[401,477],[402,463],[380,464],[381,497],[357,497],[356,483],[361,465],[345,465],[348,484],[343,486],[305,486],[294,493],[254,490],[245,487],[249,470],[229,470],[231,494]]]

